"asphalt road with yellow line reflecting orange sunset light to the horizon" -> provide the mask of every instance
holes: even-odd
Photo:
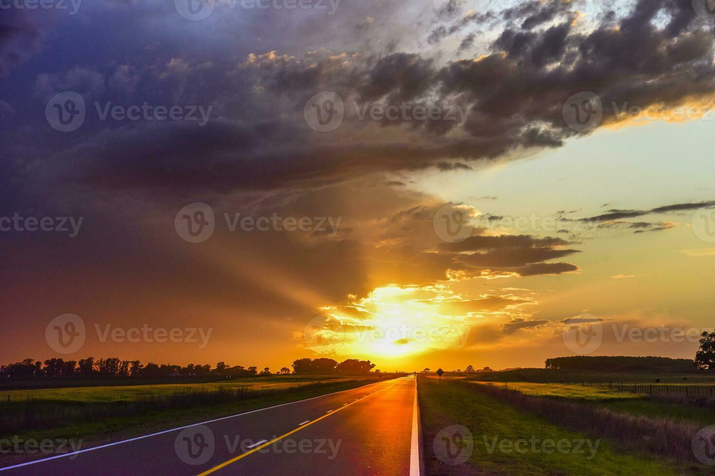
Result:
[[[2,475],[419,475],[409,376],[168,430]]]

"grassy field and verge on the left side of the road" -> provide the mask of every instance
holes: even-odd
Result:
[[[0,398],[0,439],[102,445],[216,417],[357,388],[395,375],[281,375],[230,382],[13,390]],[[137,391],[138,390],[138,391]],[[46,455],[43,455],[46,456]],[[0,455],[0,467],[37,455]]]

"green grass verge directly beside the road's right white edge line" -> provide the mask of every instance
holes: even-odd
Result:
[[[652,457],[617,452],[607,441],[601,441],[595,457],[554,452],[501,452],[488,450],[494,437],[501,440],[578,440],[588,438],[552,425],[541,417],[520,412],[493,397],[470,391],[449,379],[442,383],[420,375],[418,380],[420,412],[424,427],[425,455],[428,472],[435,475],[483,474],[506,475],[676,475],[675,465]],[[463,467],[440,464],[435,457],[435,435],[449,425],[464,425],[473,435],[474,450]],[[486,442],[485,442],[486,438]],[[592,438],[593,441],[593,438]],[[593,443],[595,445],[595,442]]]

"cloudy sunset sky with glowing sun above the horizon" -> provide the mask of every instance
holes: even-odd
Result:
[[[704,2],[35,5],[0,0],[2,363],[543,367],[713,327]]]

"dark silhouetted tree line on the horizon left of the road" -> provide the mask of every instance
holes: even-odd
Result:
[[[298,359],[292,364],[293,370],[283,367],[275,375],[318,374],[318,373],[368,373],[375,367],[370,360]],[[378,370],[379,372],[379,370]],[[139,360],[120,360],[119,358],[88,357],[77,360],[51,358],[47,360],[25,359],[21,362],[0,365],[0,378],[72,378],[72,377],[217,377],[241,378],[254,375],[274,375],[270,368],[258,370],[257,367],[227,365],[219,362],[215,368],[210,364],[172,365],[153,362],[142,364]]]

